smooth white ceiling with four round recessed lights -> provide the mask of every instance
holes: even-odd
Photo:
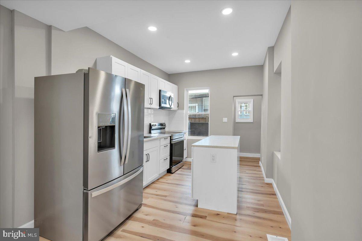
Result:
[[[87,26],[171,74],[263,64],[290,0],[1,0],[0,4],[64,31]],[[225,7],[233,12],[222,15]],[[149,31],[151,25],[158,30]],[[233,52],[239,55],[231,56]]]

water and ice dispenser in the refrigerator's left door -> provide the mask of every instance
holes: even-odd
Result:
[[[97,152],[114,149],[115,113],[98,113]]]

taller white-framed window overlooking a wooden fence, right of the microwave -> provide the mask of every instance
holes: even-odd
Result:
[[[187,128],[191,137],[209,136],[209,89],[186,89]],[[186,103],[187,103],[186,102]]]

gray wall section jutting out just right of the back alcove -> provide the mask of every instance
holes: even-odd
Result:
[[[281,75],[274,73],[274,47],[269,47],[266,51],[263,65],[262,109],[260,159],[266,178],[274,178],[275,184],[277,184],[277,176],[273,175],[274,172],[278,174],[277,170],[273,170],[273,152],[280,151]]]

